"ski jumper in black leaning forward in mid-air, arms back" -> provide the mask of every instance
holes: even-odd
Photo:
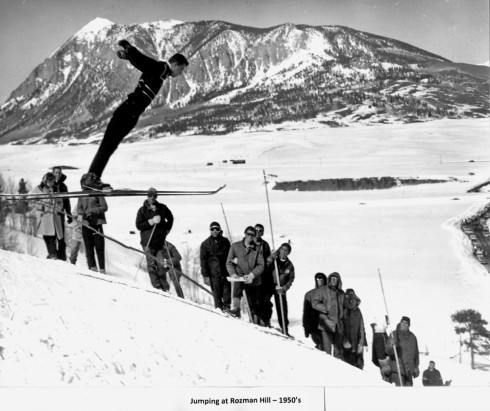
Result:
[[[88,173],[82,177],[82,184],[93,188],[110,189],[109,185],[102,184],[100,181],[109,158],[116,151],[122,139],[134,128],[146,107],[153,101],[163,81],[168,77],[180,76],[189,65],[182,54],[174,54],[166,63],[145,56],[127,40],[120,40],[118,45],[123,50],[118,50],[117,56],[128,60],[142,74],[134,92],[128,95],[128,98],[112,115]]]

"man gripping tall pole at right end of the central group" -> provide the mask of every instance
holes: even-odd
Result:
[[[289,243],[281,244],[278,251],[273,252],[267,259],[267,266],[272,269],[272,278],[274,279],[274,302],[276,304],[277,320],[279,326],[284,334],[289,335],[288,332],[288,300],[286,298],[286,292],[291,288],[294,281],[294,265],[288,258],[291,253],[291,245]],[[276,273],[276,267],[278,273]],[[279,283],[277,283],[279,279]],[[283,312],[281,313],[281,306]],[[284,322],[282,322],[282,315],[284,315]]]

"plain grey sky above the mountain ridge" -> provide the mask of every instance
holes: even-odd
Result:
[[[253,27],[343,25],[457,62],[489,60],[487,0],[4,0],[0,102],[96,17],[119,24],[223,20]]]

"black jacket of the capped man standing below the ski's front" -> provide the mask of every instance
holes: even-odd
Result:
[[[160,216],[160,223],[150,225],[148,220],[156,215]],[[150,240],[151,236],[149,248],[153,250],[161,250],[165,239],[167,238],[167,233],[172,229],[173,224],[174,216],[165,204],[156,201],[155,210],[153,210],[149,201],[145,200],[143,202],[143,206],[140,207],[138,213],[136,214],[136,228],[140,231],[140,243],[143,248],[148,245],[148,241]],[[154,230],[153,227],[155,227]],[[152,231],[153,235],[151,235]]]

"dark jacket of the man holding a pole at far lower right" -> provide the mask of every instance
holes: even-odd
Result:
[[[393,333],[393,340],[391,338],[388,339],[386,353],[390,356],[390,367],[394,372],[398,372],[394,345],[396,345],[398,361],[400,362],[400,373],[416,377],[417,375],[415,374],[418,372],[419,367],[419,347],[415,334],[410,330],[402,333],[400,324],[398,324],[396,331]]]

